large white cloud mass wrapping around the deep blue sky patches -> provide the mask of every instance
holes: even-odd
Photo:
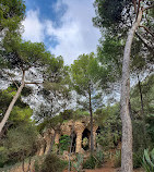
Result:
[[[29,11],[24,22],[23,36],[32,41],[44,41],[45,33],[49,39],[56,37],[59,45],[49,50],[56,56],[62,56],[66,64],[71,64],[80,54],[96,51],[100,34],[92,23],[95,16],[93,0],[58,0],[56,11],[63,3],[68,9],[61,17],[61,27],[55,28],[50,20],[40,22],[38,11]]]

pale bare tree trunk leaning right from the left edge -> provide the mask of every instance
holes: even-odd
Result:
[[[22,89],[24,88],[24,85],[25,85],[25,83],[24,83],[24,76],[25,76],[25,72],[23,72],[22,84],[21,84],[21,86],[19,87],[19,89],[17,89],[17,91],[16,91],[16,95],[13,97],[13,99],[12,99],[12,101],[11,101],[11,103],[10,103],[10,106],[9,106],[9,108],[8,108],[7,112],[5,112],[5,114],[4,114],[4,118],[2,119],[2,121],[1,121],[1,123],[0,123],[0,133],[1,133],[1,131],[2,131],[2,128],[3,128],[3,126],[4,126],[4,124],[7,123],[9,116],[10,116],[10,113],[11,113],[13,107],[14,107],[14,103],[16,102],[17,98],[19,98],[20,95],[21,95]]]

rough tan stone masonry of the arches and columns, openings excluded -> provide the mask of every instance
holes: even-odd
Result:
[[[69,135],[71,136],[71,133],[74,132],[76,135],[76,143],[75,143],[75,152],[83,152],[82,149],[82,133],[85,128],[90,130],[90,118],[85,116],[82,120],[79,121],[73,121],[70,120],[68,122],[63,122],[63,124],[60,126],[60,128],[58,131],[54,131],[54,130],[47,130],[44,133],[44,140],[45,143],[42,140],[42,143],[39,144],[39,151],[37,152],[37,155],[42,156],[44,153],[47,153],[51,144],[51,138],[55,135],[56,132],[56,136],[55,136],[55,144],[59,144],[59,138],[61,135]],[[93,135],[94,135],[94,147],[96,146],[96,130],[97,130],[97,125],[93,125]],[[72,130],[73,128],[73,130]]]

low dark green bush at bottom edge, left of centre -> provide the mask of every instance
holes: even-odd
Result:
[[[50,153],[45,158],[40,167],[40,172],[62,172],[67,165],[67,161],[63,161],[56,155]]]

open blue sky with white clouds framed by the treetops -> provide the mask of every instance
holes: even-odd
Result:
[[[25,0],[24,40],[44,42],[64,64],[96,52],[100,33],[93,26],[94,0]]]

